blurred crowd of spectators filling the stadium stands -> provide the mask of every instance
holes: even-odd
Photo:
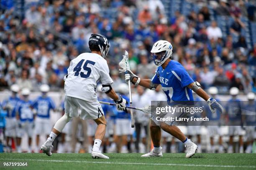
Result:
[[[176,2],[198,10],[180,8],[170,15],[166,7]],[[172,58],[203,87],[256,92],[256,43],[247,36],[255,34],[251,9],[250,0],[2,0],[0,88],[63,88],[70,60],[90,52],[90,35],[100,33],[110,40],[106,60],[114,82],[123,80],[117,70],[124,50],[131,70],[151,78],[156,67],[150,50],[163,39],[172,43]]]

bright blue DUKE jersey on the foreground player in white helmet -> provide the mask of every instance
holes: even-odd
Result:
[[[159,66],[151,81],[161,84],[167,101],[193,101],[192,90],[187,85],[194,81],[177,61],[171,60],[165,69]]]

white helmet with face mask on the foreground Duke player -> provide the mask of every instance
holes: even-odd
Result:
[[[158,59],[155,53],[162,51],[165,51],[165,53],[161,56],[161,59]],[[162,65],[169,57],[172,56],[172,44],[165,40],[156,41],[152,47],[151,56],[155,65]]]

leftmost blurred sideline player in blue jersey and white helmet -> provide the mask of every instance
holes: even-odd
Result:
[[[15,138],[17,137],[17,119],[15,107],[20,101],[20,98],[17,95],[20,90],[20,87],[14,84],[11,85],[10,90],[12,91],[12,95],[8,99],[4,100],[2,103],[3,110],[7,110],[5,126],[7,150],[11,150],[11,146],[9,144],[11,138],[13,138],[13,140],[16,141]]]

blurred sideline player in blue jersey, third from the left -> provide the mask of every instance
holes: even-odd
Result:
[[[55,104],[51,97],[47,96],[49,90],[49,85],[41,85],[40,91],[42,92],[42,95],[37,97],[32,105],[32,107],[36,109],[36,152],[39,151],[40,135],[46,136],[47,139],[52,128],[50,125],[50,110],[55,110]]]

